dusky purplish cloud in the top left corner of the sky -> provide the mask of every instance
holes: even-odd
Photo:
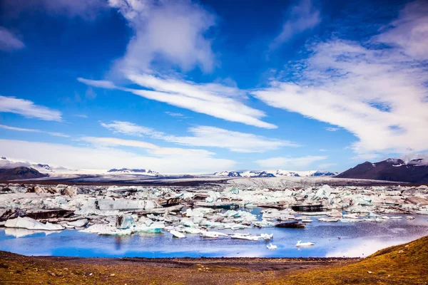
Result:
[[[53,16],[81,17],[93,20],[108,6],[105,0],[3,0],[8,16],[18,16],[22,11],[44,11]]]

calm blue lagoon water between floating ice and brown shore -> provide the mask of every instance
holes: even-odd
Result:
[[[254,214],[258,212],[260,209],[253,210]],[[314,222],[305,229],[223,230],[225,233],[273,233],[271,242],[278,247],[273,251],[266,249],[264,241],[228,237],[204,239],[197,234],[187,234],[185,239],[173,239],[168,233],[105,237],[68,229],[51,233],[0,229],[0,250],[69,257],[364,257],[378,249],[428,235],[428,216],[414,217],[414,220],[389,219],[382,223],[326,223],[317,222],[317,217],[313,217]],[[295,247],[298,240],[314,242],[315,246],[298,249]]]

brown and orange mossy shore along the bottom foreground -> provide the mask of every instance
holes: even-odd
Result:
[[[253,266],[243,266],[245,262]],[[360,260],[275,262],[288,262],[290,266],[269,268],[263,259],[234,259],[221,265],[215,259],[195,259],[186,266],[171,266],[0,252],[0,284],[428,284],[428,237],[382,249]],[[255,271],[254,264],[259,263],[266,268]]]

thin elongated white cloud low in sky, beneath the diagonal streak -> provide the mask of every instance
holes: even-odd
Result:
[[[152,128],[123,121],[101,123],[101,125],[114,133],[123,133],[138,137],[147,135],[151,138],[174,142],[179,145],[222,147],[234,152],[267,152],[268,150],[277,150],[280,147],[299,146],[295,142],[287,140],[275,140],[261,135],[240,133],[203,125],[189,128],[188,132],[192,134],[191,136],[167,135]]]

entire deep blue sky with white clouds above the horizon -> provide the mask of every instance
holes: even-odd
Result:
[[[163,173],[428,151],[428,1],[0,0],[0,155]]]

